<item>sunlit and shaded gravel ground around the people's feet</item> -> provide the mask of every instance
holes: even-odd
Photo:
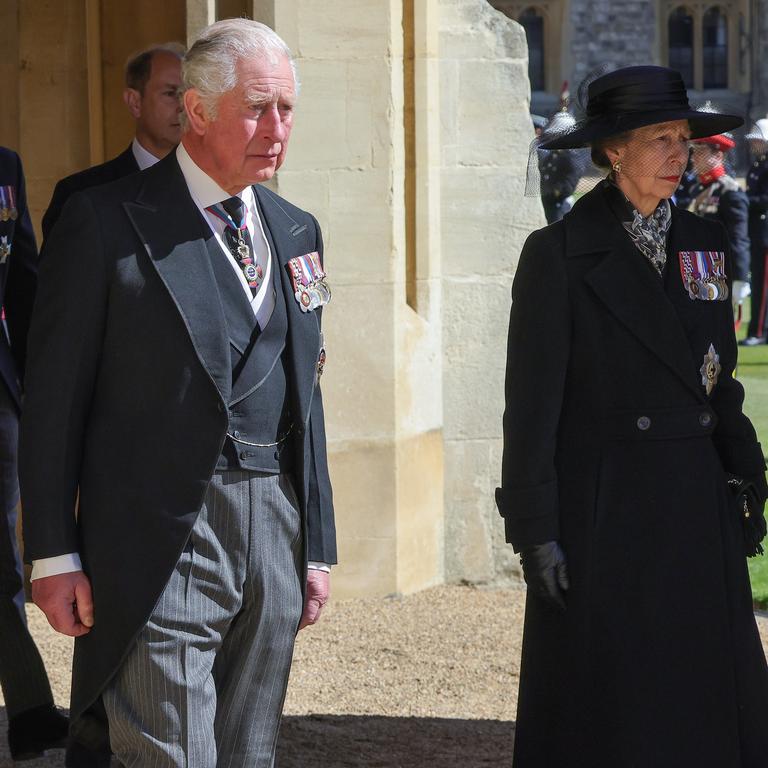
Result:
[[[524,604],[523,590],[471,587],[332,602],[297,641],[278,768],[509,766]],[[28,613],[66,706],[71,641]],[[758,623],[768,653],[768,618]],[[63,764],[51,752],[23,765]]]

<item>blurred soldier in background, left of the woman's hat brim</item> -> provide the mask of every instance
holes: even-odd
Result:
[[[546,141],[555,135],[567,131],[575,123],[573,116],[561,110],[547,123],[541,132],[541,140]],[[538,150],[539,175],[541,177],[541,202],[547,224],[565,216],[573,205],[573,192],[581,178],[577,153],[570,150]]]

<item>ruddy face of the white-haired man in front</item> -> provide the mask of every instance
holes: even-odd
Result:
[[[227,191],[267,181],[282,165],[296,101],[293,70],[282,55],[274,63],[241,60],[237,82],[219,98],[216,118],[196,131],[214,178]]]

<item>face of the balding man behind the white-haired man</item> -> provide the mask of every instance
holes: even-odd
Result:
[[[181,61],[172,53],[156,53],[144,92],[129,88],[126,103],[136,118],[136,138],[156,157],[164,157],[181,141]]]

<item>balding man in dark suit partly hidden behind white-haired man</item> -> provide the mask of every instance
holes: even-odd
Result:
[[[181,140],[179,90],[183,55],[181,45],[166,43],[128,59],[123,100],[136,121],[136,135],[117,157],[73,173],[56,184],[43,215],[44,240],[72,194],[143,171],[176,148]]]

